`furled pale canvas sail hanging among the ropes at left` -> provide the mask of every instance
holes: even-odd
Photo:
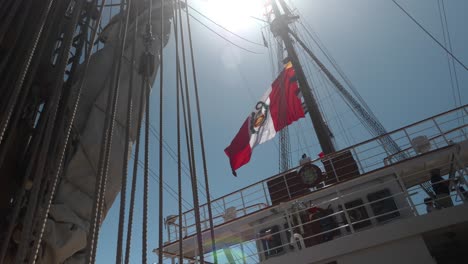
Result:
[[[167,6],[165,17],[166,33],[170,32],[172,9]],[[119,16],[122,17],[122,16]],[[117,18],[114,17],[113,20]],[[138,26],[144,30],[148,21],[148,11],[138,16]],[[160,2],[153,3],[152,31],[160,36]],[[95,182],[99,162],[99,152],[102,144],[102,131],[105,126],[105,111],[107,94],[111,87],[112,64],[115,49],[118,46],[119,23],[109,23],[101,34],[105,46],[92,55],[88,74],[83,87],[82,98],[77,112],[74,132],[78,140],[74,145],[74,152],[68,159],[55,200],[52,204],[46,227],[43,244],[39,256],[40,263],[85,263],[85,248],[88,229],[91,222]],[[120,75],[120,96],[114,126],[112,152],[110,155],[109,174],[104,200],[104,215],[108,212],[114,199],[120,191],[122,164],[128,160],[124,157],[125,123],[127,116],[127,94],[130,78],[130,58],[132,46],[136,45],[136,67],[134,68],[133,89],[133,120],[136,119],[140,105],[141,75],[138,74],[140,55],[144,51],[142,34],[133,43],[134,24],[130,24],[127,31],[127,44],[122,60]],[[140,32],[142,30],[139,30]],[[168,34],[165,34],[166,37]],[[158,39],[158,38],[156,38]],[[167,43],[167,39],[165,39]],[[159,66],[159,41],[153,41],[152,52],[155,54],[156,70],[150,77],[152,84]],[[136,139],[136,122],[131,128],[131,143]],[[131,146],[130,146],[131,147]]]

